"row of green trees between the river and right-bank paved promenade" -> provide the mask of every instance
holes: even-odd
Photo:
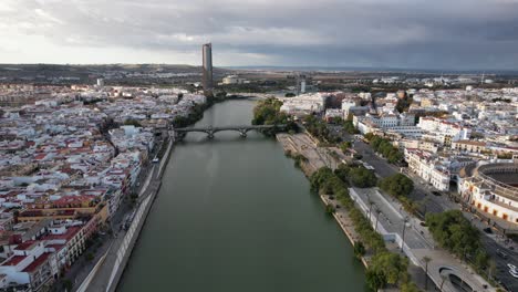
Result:
[[[366,271],[367,285],[374,291],[387,285],[398,286],[403,292],[418,291],[411,282],[407,272],[408,260],[390,252],[382,236],[372,228],[370,220],[355,207],[354,201],[349,196],[349,179],[342,180],[342,177],[348,178],[343,170],[343,167],[334,173],[328,167],[320,168],[310,177],[311,189],[334,195],[343,208],[348,210],[354,230],[360,238],[360,241],[354,242],[355,254],[359,257],[363,257],[366,252],[372,254]],[[346,173],[349,174],[349,171]]]

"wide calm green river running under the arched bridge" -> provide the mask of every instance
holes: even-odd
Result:
[[[228,101],[196,126],[249,124]],[[190,133],[176,145],[118,291],[366,291],[362,264],[281,145]]]

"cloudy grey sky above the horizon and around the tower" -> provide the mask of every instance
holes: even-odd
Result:
[[[0,0],[0,63],[518,69],[518,0]]]

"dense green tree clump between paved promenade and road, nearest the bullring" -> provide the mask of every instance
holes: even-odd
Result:
[[[478,273],[488,269],[489,257],[480,242],[480,232],[459,210],[428,213],[426,225],[442,248],[470,262]]]

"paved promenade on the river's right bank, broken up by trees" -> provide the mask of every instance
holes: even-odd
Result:
[[[301,161],[300,166],[308,177],[320,167],[328,166],[334,169],[333,166],[342,163],[338,158],[328,155],[329,149],[319,149],[321,147],[307,134],[278,134],[277,139],[282,144],[284,152],[290,152],[291,155],[300,154],[307,158],[305,161]],[[376,220],[375,216],[371,216],[370,221],[373,228],[383,236],[388,250],[404,253],[414,267],[418,267],[423,271],[425,270],[423,258],[433,259],[428,263],[427,277],[436,286],[441,286],[445,292],[456,291],[456,288],[449,281],[450,277],[454,277],[463,279],[465,284],[469,284],[476,291],[495,291],[470,267],[453,258],[449,252],[437,248],[427,228],[421,226],[417,218],[407,215],[398,201],[385,197],[373,188],[350,188],[350,194],[356,207],[365,217],[369,217],[369,201],[374,201],[380,207],[380,220]],[[324,205],[340,205],[339,201],[331,200],[327,195],[321,195],[320,198]],[[346,210],[336,208],[333,217],[352,244],[359,241],[359,236]],[[408,218],[407,228],[403,227],[403,225],[406,225],[404,218]],[[403,231],[404,229],[406,229],[406,232]],[[404,240],[403,232],[405,232]],[[369,254],[362,258],[362,262],[365,267],[369,265]],[[419,281],[419,279],[421,277],[414,279],[414,281]]]

